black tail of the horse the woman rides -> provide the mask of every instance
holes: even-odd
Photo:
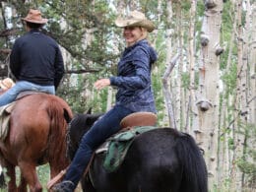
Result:
[[[177,138],[176,154],[183,167],[180,191],[207,192],[206,163],[195,140],[190,135],[184,133]]]

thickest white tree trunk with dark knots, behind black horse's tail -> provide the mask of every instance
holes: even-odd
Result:
[[[219,69],[220,58],[216,54],[220,44],[223,0],[205,0],[205,16],[202,26],[202,66],[200,69],[199,107],[200,133],[197,138],[206,153],[210,189],[217,181],[217,149],[219,128]]]

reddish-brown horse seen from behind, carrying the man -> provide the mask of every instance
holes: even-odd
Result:
[[[1,164],[10,177],[9,192],[42,191],[36,166],[49,163],[50,177],[64,169],[66,132],[72,118],[69,105],[60,97],[33,94],[17,100],[10,117],[9,133],[0,141]],[[16,185],[15,167],[21,170],[19,187]]]

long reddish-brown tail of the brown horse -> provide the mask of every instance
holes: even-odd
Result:
[[[48,137],[49,163],[52,163],[58,172],[66,167],[69,159],[66,154],[68,123],[73,114],[69,105],[60,97],[50,96],[47,113],[50,118],[50,131]],[[54,172],[56,174],[58,172]]]

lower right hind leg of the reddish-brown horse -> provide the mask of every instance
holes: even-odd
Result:
[[[25,161],[19,162],[19,166],[22,173],[22,184],[26,183],[23,181],[23,179],[25,179],[30,185],[31,192],[41,192],[42,186],[36,174],[36,166],[32,162]],[[24,189],[25,187],[21,186],[21,188]]]

